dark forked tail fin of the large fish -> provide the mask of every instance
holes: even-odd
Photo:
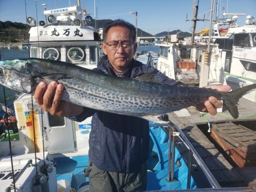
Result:
[[[256,89],[256,84],[241,87],[239,89],[233,90],[229,93],[224,93],[222,95],[223,104],[224,106],[226,106],[226,108],[228,108],[230,114],[233,116],[234,119],[237,119],[239,116],[239,112],[237,109],[239,99],[253,89]]]

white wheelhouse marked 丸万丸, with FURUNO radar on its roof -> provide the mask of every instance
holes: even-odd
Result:
[[[55,10],[47,10],[43,4],[46,22],[28,17],[30,29],[30,56],[42,59],[70,62],[93,69],[100,59],[100,36],[88,26],[92,17],[86,15],[80,4]],[[86,25],[87,24],[87,25]]]

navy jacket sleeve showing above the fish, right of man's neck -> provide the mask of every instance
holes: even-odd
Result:
[[[165,74],[159,72],[156,68],[150,65],[143,65],[142,66],[143,73],[150,73],[150,72],[158,72],[155,74],[155,82],[159,82],[161,84],[169,84],[174,85],[176,81],[172,78],[167,77]]]

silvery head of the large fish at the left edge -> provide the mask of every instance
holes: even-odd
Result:
[[[0,61],[0,84],[21,93],[34,91],[34,79],[27,70],[26,60]]]

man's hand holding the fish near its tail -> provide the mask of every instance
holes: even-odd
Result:
[[[228,92],[231,87],[228,85],[208,85],[205,88],[217,89],[219,91]],[[222,102],[215,97],[209,97],[207,101],[196,105],[196,109],[202,112],[209,112],[210,115],[217,114],[217,108],[222,107]]]

